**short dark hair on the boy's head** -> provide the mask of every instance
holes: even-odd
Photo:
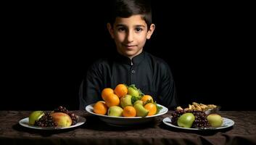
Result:
[[[110,24],[113,25],[116,17],[131,17],[141,14],[147,28],[152,24],[151,0],[112,0],[112,14]]]

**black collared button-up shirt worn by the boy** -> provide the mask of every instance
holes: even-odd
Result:
[[[119,83],[135,86],[153,97],[157,104],[176,107],[176,88],[168,64],[143,51],[129,59],[120,54],[112,59],[100,59],[88,69],[80,86],[80,109],[102,100],[104,88],[115,88]]]

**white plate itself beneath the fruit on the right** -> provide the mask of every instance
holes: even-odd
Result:
[[[219,130],[219,129],[223,129],[223,128],[229,128],[229,127],[231,127],[235,124],[233,120],[228,119],[226,117],[223,117],[223,124],[218,128],[203,128],[203,129],[200,129],[200,128],[182,128],[182,127],[173,125],[171,123],[172,121],[170,120],[170,117],[165,117],[162,120],[162,122],[165,123],[165,125],[171,126],[173,128],[180,128],[180,129],[183,129],[183,130]]]

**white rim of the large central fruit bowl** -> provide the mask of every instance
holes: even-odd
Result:
[[[99,117],[109,117],[109,118],[122,118],[122,119],[139,119],[139,118],[149,118],[149,117],[157,117],[157,116],[160,116],[160,115],[164,115],[165,113],[168,112],[168,108],[167,107],[164,107],[160,104],[157,104],[158,107],[162,107],[162,109],[160,109],[160,112],[157,113],[157,115],[152,115],[152,116],[146,116],[146,117],[115,117],[115,116],[107,116],[107,115],[99,115],[99,114],[96,114],[94,113],[92,110],[94,109],[94,104],[89,104],[86,106],[86,112],[90,113],[91,115],[96,115],[96,116],[99,116]]]

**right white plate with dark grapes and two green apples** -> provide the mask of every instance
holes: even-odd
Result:
[[[193,102],[193,104],[197,103]],[[170,117],[165,117],[162,122],[173,128],[185,130],[219,130],[234,125],[233,120],[222,117],[217,112],[205,112],[205,110],[195,108],[182,109],[181,107],[177,107],[175,112]]]

